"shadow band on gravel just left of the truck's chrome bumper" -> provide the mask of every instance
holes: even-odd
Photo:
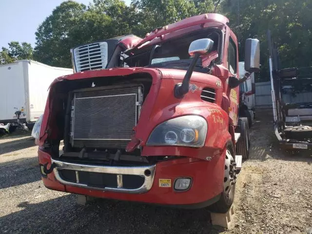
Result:
[[[37,157],[0,163],[0,189],[35,182],[41,179]]]

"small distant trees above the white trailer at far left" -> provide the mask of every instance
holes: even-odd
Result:
[[[0,51],[0,64],[7,64],[21,59],[32,59],[33,48],[31,44],[18,41],[8,43],[9,48],[2,47]]]

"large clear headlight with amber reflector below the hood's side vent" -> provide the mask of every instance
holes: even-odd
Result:
[[[147,145],[178,145],[202,147],[205,144],[207,122],[200,116],[181,116],[159,124]]]

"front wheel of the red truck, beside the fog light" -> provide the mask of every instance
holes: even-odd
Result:
[[[229,157],[228,155],[232,156],[232,160],[231,157]],[[234,195],[235,195],[235,183],[232,184],[231,179],[235,179],[236,178],[236,174],[233,171],[233,169],[230,169],[231,167],[228,166],[229,162],[230,163],[234,163],[234,147],[232,142],[227,144],[227,151],[226,151],[226,155],[225,155],[225,168],[224,168],[224,186],[223,186],[223,191],[221,193],[221,196],[219,198],[219,200],[217,202],[215,202],[214,204],[210,205],[208,207],[208,210],[210,212],[213,213],[226,213],[230,207],[233,204],[234,201]],[[232,164],[233,168],[234,165]],[[233,171],[233,175],[229,175],[228,171]],[[227,178],[227,180],[225,180],[225,178]],[[228,187],[228,184],[230,183],[228,190],[226,190],[226,188]]]

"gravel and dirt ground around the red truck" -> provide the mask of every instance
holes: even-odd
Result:
[[[279,149],[270,112],[259,110],[250,159],[238,175],[232,231],[206,210],[96,200],[46,189],[29,135],[0,138],[0,233],[299,234],[312,227],[312,152]]]

